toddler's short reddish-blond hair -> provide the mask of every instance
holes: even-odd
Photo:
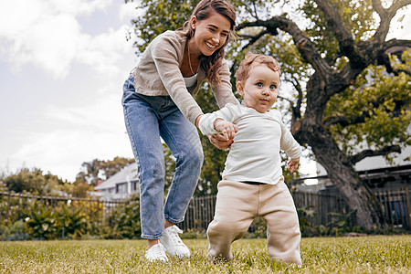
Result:
[[[268,55],[258,54],[258,53],[248,53],[246,57],[241,61],[237,72],[236,72],[236,79],[237,82],[244,82],[248,79],[248,72],[258,66],[258,65],[266,65],[273,71],[278,71],[279,76],[281,76],[281,70],[279,69],[279,62]]]

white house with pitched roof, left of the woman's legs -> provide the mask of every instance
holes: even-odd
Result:
[[[130,163],[120,172],[94,187],[103,199],[119,200],[140,191],[140,165]]]

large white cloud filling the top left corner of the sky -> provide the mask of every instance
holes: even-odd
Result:
[[[64,79],[73,62],[88,65],[100,73],[115,72],[115,62],[132,48],[132,41],[125,43],[128,26],[90,36],[82,32],[78,20],[79,16],[107,8],[111,2],[3,1],[0,4],[0,58],[15,70],[33,64],[55,79]]]

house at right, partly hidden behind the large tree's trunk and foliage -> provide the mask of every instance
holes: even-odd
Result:
[[[397,228],[411,229],[411,147],[395,158],[395,163],[385,163],[382,156],[369,157],[355,164],[354,168],[364,184],[374,193],[382,206],[382,213],[387,224]],[[332,184],[324,168],[317,164],[319,175],[311,178],[298,178],[304,182],[315,179],[318,184],[297,184],[298,192],[311,192],[324,196],[340,196],[337,187]],[[322,205],[321,205],[322,206]],[[322,208],[322,207],[319,207]],[[320,209],[322,210],[322,209]]]

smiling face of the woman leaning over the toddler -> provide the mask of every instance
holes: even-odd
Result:
[[[222,47],[230,32],[230,21],[216,12],[213,12],[204,20],[197,20],[195,16],[191,18],[191,27],[195,28],[195,35],[192,37],[192,47],[190,51],[195,54],[211,56],[218,48]]]

